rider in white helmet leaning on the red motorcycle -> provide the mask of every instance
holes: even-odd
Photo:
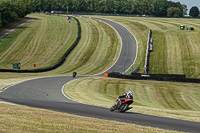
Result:
[[[120,95],[118,98],[119,98],[119,100],[117,100],[115,102],[116,108],[119,108],[120,105],[122,104],[122,102],[125,101],[126,99],[133,99],[133,95],[132,95],[131,91],[128,91],[127,93]]]

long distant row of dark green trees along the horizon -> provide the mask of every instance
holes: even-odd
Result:
[[[157,17],[167,17],[167,10],[170,7],[178,10],[178,13],[173,14],[178,14],[180,17],[187,12],[186,5],[167,0],[34,0],[34,4],[35,11],[67,11],[68,9],[73,12],[145,14]]]

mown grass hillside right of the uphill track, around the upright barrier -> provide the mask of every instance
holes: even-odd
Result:
[[[138,41],[134,68],[144,72],[148,30],[153,31],[154,51],[150,57],[150,73],[186,74],[200,78],[200,26],[198,19],[104,17],[127,27]],[[182,31],[180,25],[190,24],[194,31]]]

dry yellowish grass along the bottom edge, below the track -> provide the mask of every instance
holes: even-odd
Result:
[[[13,106],[0,103],[0,132],[67,132],[67,133],[115,133],[173,132],[134,124],[81,117],[44,109]],[[175,133],[175,132],[174,132]]]

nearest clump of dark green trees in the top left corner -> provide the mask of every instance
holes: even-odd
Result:
[[[0,27],[31,13],[34,0],[0,0]]]

